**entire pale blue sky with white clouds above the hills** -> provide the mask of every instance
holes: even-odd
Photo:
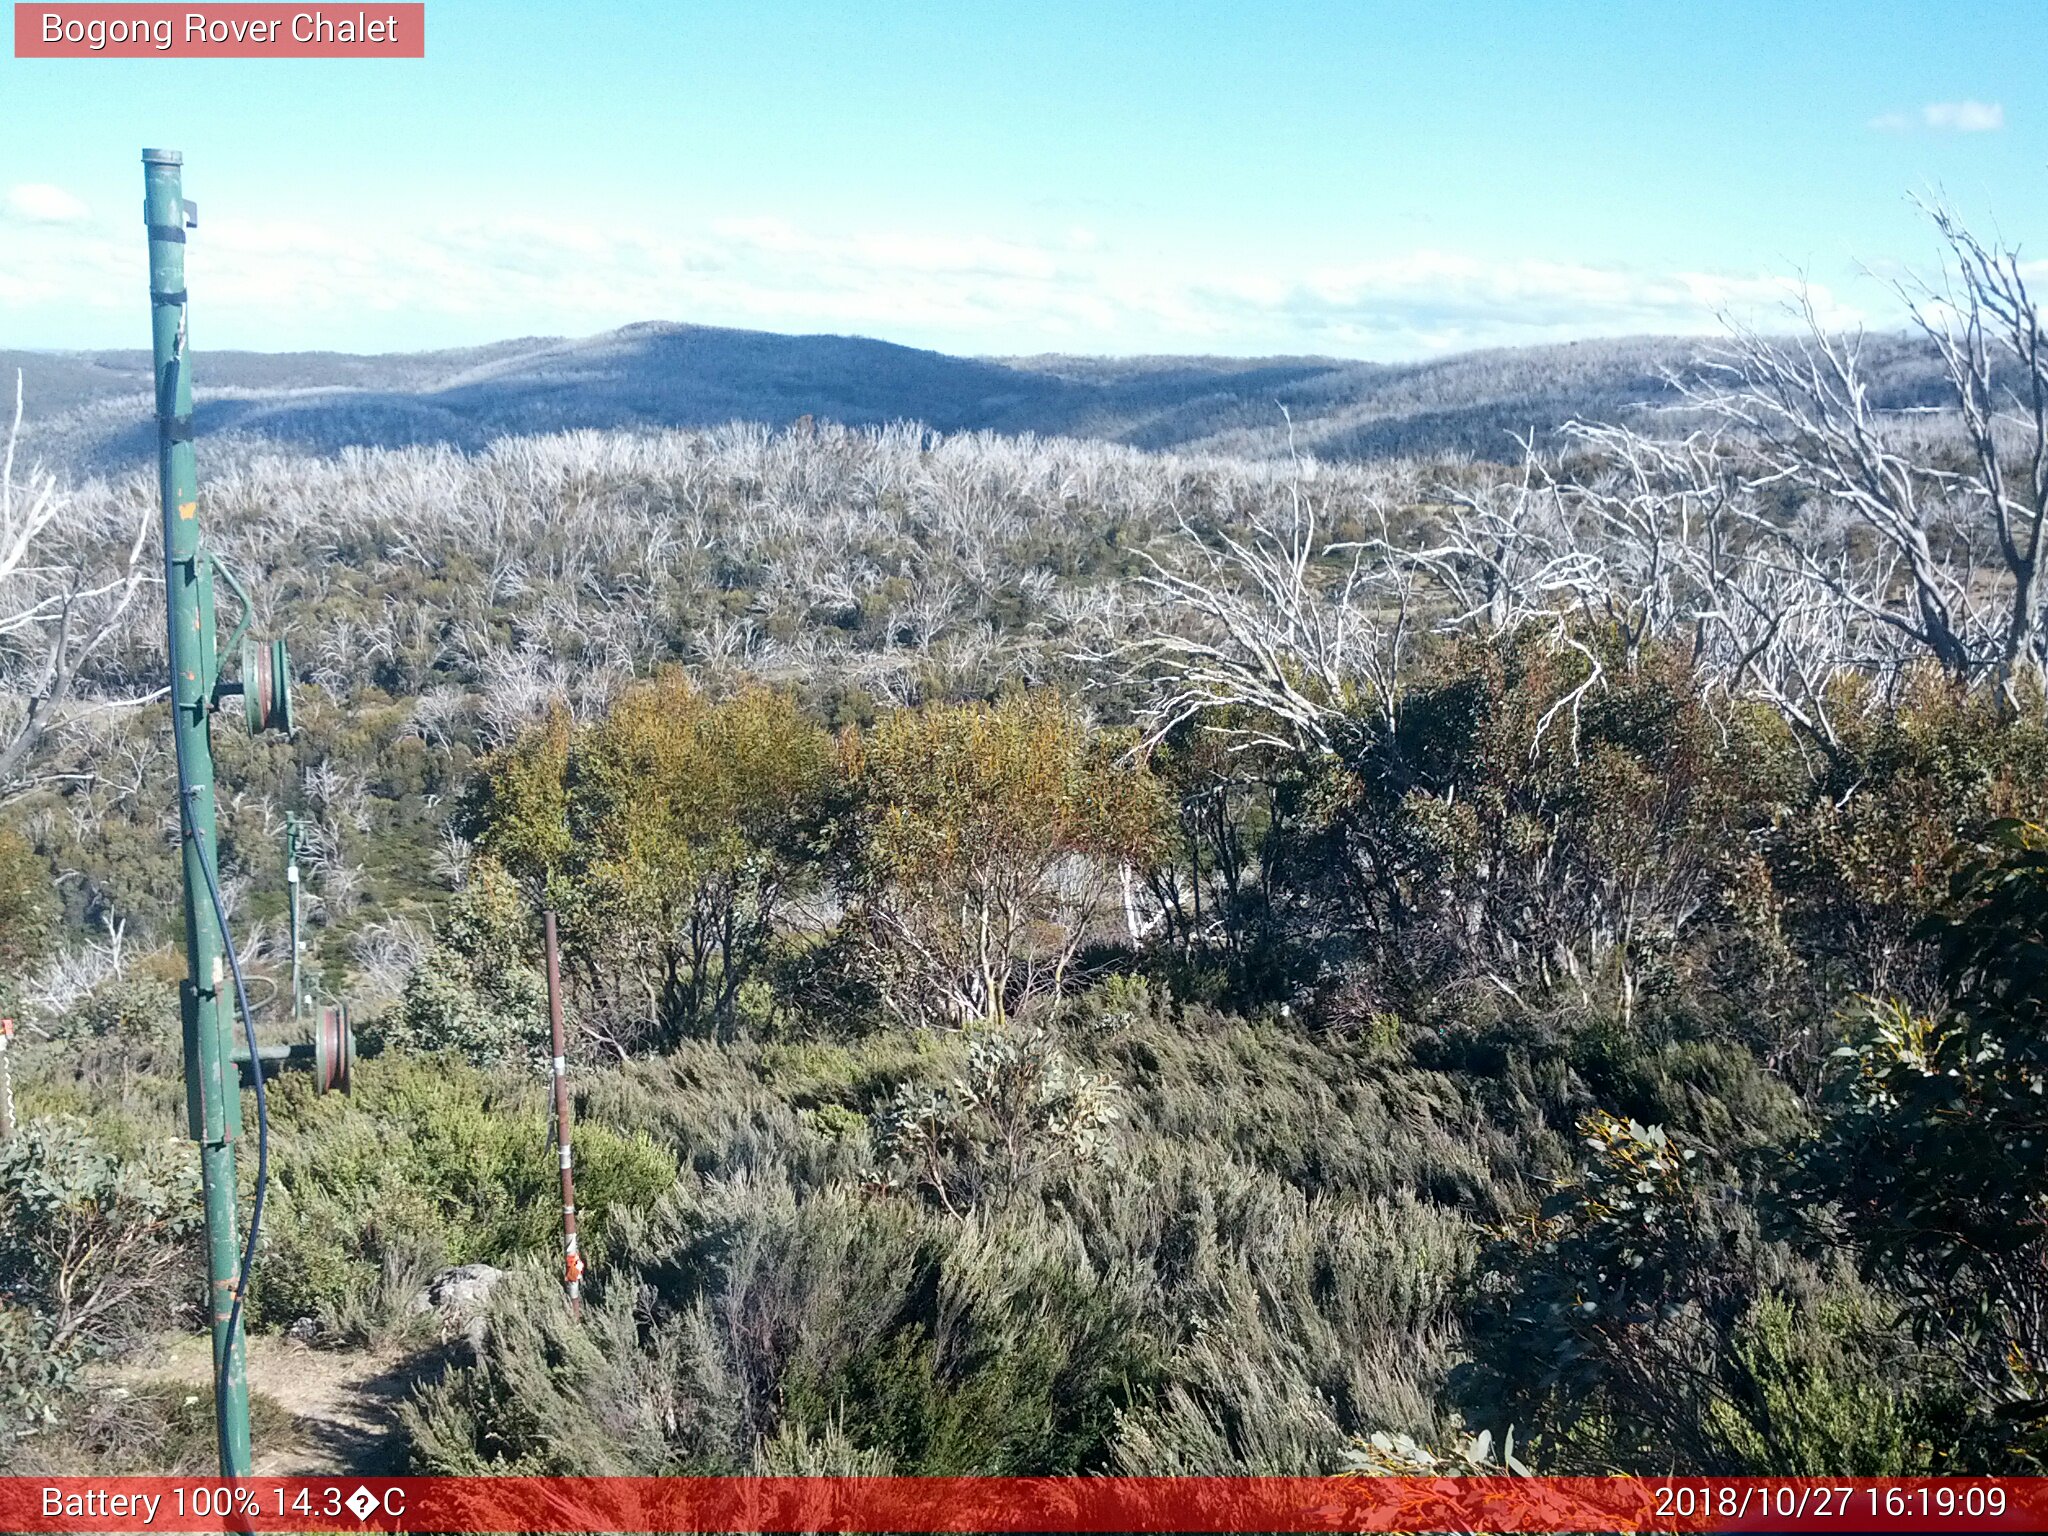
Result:
[[[143,344],[145,143],[213,346],[1409,358],[1798,281],[1882,326],[1911,193],[2048,256],[2042,57],[2036,0],[428,0],[424,61],[0,57],[0,346]]]

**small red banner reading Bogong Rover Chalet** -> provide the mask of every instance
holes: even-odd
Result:
[[[16,4],[16,59],[424,59],[424,4]]]

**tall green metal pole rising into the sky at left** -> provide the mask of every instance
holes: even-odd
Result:
[[[150,225],[150,309],[156,342],[158,477],[164,494],[164,608],[170,625],[170,715],[184,811],[184,1098],[207,1196],[207,1311],[213,1319],[213,1399],[221,1473],[250,1473],[250,1391],[240,1323],[229,1329],[242,1245],[236,1239],[236,1139],[242,1081],[233,1063],[231,1008],[221,1006],[225,936],[213,915],[201,856],[219,870],[209,715],[213,565],[199,541],[199,471],[193,463],[193,371],[186,362],[184,156],[143,150],[143,217]]]

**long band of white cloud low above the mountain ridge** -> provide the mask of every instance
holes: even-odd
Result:
[[[135,307],[139,233],[57,186],[0,201],[14,260],[0,305]],[[1759,324],[1794,272],[1645,270],[1413,250],[1354,264],[1178,268],[1085,227],[1053,244],[946,231],[823,231],[784,219],[600,227],[569,217],[449,219],[432,229],[266,221],[209,209],[190,279],[199,334],[256,350],[416,350],[639,319],[846,332],[952,352],[1217,352],[1403,360],[1593,336]],[[1806,289],[1835,326],[1868,315]],[[403,342],[430,336],[432,342]],[[1104,338],[1122,344],[1106,346]],[[41,340],[66,346],[61,340]],[[80,340],[80,346],[94,342]]]

